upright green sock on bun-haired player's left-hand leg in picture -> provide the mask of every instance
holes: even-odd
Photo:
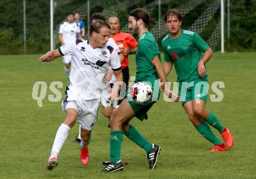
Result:
[[[123,131],[111,131],[109,152],[111,156],[111,163],[116,163],[120,160],[122,141]]]

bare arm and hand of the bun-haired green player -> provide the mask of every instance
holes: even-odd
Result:
[[[178,102],[179,101],[179,96],[173,94],[172,91],[170,91],[168,88],[165,88],[165,83],[166,83],[166,75],[165,75],[165,70],[163,69],[162,63],[157,56],[154,57],[154,59],[151,60],[151,63],[155,66],[155,69],[157,70],[158,77],[161,80],[161,83],[163,83],[162,88],[165,91],[165,94],[169,96],[169,98],[172,98],[173,101]]]

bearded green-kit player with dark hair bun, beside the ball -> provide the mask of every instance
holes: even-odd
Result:
[[[152,96],[155,95],[158,99],[158,79],[160,78],[161,82],[165,84],[166,76],[161,63],[158,44],[155,41],[154,36],[148,32],[147,27],[150,22],[151,19],[146,10],[131,10],[129,14],[129,29],[139,38],[136,52],[136,83],[140,81],[150,82],[152,87],[155,86]],[[154,85],[155,81],[157,81],[157,85]],[[156,88],[158,89],[156,90]],[[155,92],[157,94],[154,94]],[[172,96],[171,92],[169,92],[169,96]],[[151,144],[151,142],[147,141],[147,139],[145,139],[134,126],[129,124],[129,121],[134,116],[143,120],[146,112],[151,108],[155,101],[152,101],[151,99],[143,105],[140,105],[127,99],[129,99],[129,96],[122,101],[119,108],[112,114],[111,119],[109,120],[111,126],[111,161],[109,163],[105,163],[106,166],[103,171],[106,173],[123,169],[123,164],[120,160],[120,152],[124,133],[129,139],[131,139],[131,141],[135,142],[138,146],[143,148],[145,152],[147,152],[150,169],[154,169],[155,164],[157,163],[160,146]],[[176,98],[176,101],[178,100],[179,98]]]

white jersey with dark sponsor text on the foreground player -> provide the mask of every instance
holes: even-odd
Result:
[[[118,53],[106,43],[93,48],[88,40],[75,40],[59,48],[62,55],[72,55],[70,85],[67,101],[101,98],[105,77],[109,68],[120,70]]]

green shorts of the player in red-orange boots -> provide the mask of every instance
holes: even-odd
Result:
[[[182,106],[185,102],[192,101],[193,99],[200,99],[206,103],[208,91],[208,77],[179,82],[179,96]]]

